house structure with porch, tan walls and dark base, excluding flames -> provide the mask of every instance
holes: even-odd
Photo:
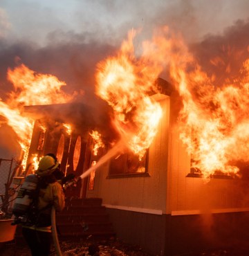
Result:
[[[194,169],[192,155],[180,138],[178,92],[162,79],[158,86],[160,91],[150,97],[160,104],[163,116],[140,160],[132,152],[116,149],[93,168],[108,149],[94,154],[93,129],[101,127],[91,117],[91,109],[82,104],[55,104],[26,108],[30,115],[40,114],[30,144],[30,163],[34,155],[53,152],[62,168],[76,176],[92,166],[68,196],[102,199],[117,237],[152,254],[174,255],[246,241],[243,227],[249,208],[242,197],[247,181],[221,172],[208,181]],[[64,114],[56,120],[58,109],[64,109]],[[80,109],[80,120],[75,118],[75,109]],[[73,127],[81,125],[68,133],[64,120]]]

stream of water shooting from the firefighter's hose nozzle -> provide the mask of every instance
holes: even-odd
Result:
[[[90,167],[88,170],[86,170],[86,172],[83,172],[80,175],[80,179],[84,179],[86,176],[89,176],[93,170],[109,161],[109,159],[111,159],[113,156],[116,156],[116,154],[122,153],[125,147],[126,145],[122,140],[118,141],[118,143],[116,143],[116,145],[114,145],[114,147],[112,147],[109,152],[107,152],[107,154],[102,156],[102,158],[100,158],[100,160],[94,166]]]

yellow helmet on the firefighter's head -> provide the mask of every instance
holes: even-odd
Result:
[[[38,170],[35,173],[39,176],[48,176],[55,171],[58,165],[59,162],[52,156],[43,156],[39,161]]]

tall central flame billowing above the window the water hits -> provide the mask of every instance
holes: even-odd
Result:
[[[132,30],[116,57],[98,64],[96,94],[113,108],[113,123],[123,141],[142,158],[157,132],[162,115],[160,104],[148,96],[155,89],[154,82],[161,68],[150,65],[146,52],[136,59],[135,35]]]

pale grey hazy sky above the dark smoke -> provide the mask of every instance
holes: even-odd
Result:
[[[131,28],[145,35],[160,25],[187,39],[222,33],[237,19],[248,19],[247,0],[1,0],[0,35],[42,46],[52,39],[98,39],[116,44]]]

